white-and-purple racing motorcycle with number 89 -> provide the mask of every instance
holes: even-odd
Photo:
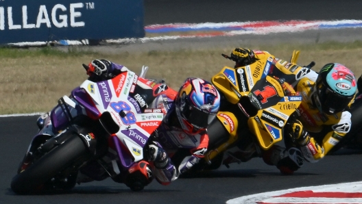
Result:
[[[126,69],[113,79],[86,80],[60,98],[38,119],[40,129],[12,179],[12,190],[70,190],[76,183],[108,177],[134,191],[147,186],[153,178],[147,142],[163,114],[143,111],[146,102],[134,88],[137,81],[138,75]]]

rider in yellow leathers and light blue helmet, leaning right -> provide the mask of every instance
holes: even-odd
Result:
[[[265,53],[236,48],[229,59],[237,68],[257,62]],[[348,110],[356,94],[357,80],[350,69],[338,63],[324,65],[319,73],[310,68],[293,73],[295,66],[278,58],[273,63],[282,66],[269,68],[269,75],[294,75],[298,79],[291,87],[301,93],[302,103],[288,120],[285,131],[290,137],[284,137],[285,146],[272,146],[263,153],[263,160],[283,174],[292,174],[304,160],[322,159],[348,133],[351,127]]]

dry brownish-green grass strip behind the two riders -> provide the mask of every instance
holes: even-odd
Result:
[[[241,46],[241,45],[240,45]],[[147,77],[165,79],[171,88],[178,89],[186,77],[209,80],[224,66],[233,62],[221,57],[235,47],[177,49],[129,53],[97,53],[84,47],[27,49],[0,48],[0,114],[47,112],[64,94],[79,86],[87,75],[82,64],[93,59],[108,59],[123,64],[135,73],[149,66]],[[319,70],[324,64],[338,62],[346,65],[359,77],[362,73],[362,42],[323,42],[315,44],[267,44],[247,47],[269,51],[276,58],[289,60],[294,49],[300,50],[298,64],[316,62]]]

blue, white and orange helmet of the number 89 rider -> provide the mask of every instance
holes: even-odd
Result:
[[[206,130],[220,107],[220,94],[210,82],[187,78],[176,97],[176,115],[185,133]]]

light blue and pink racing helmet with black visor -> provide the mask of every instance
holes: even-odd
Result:
[[[357,80],[352,71],[342,64],[329,63],[318,74],[313,99],[319,111],[336,114],[350,105],[356,91]]]

